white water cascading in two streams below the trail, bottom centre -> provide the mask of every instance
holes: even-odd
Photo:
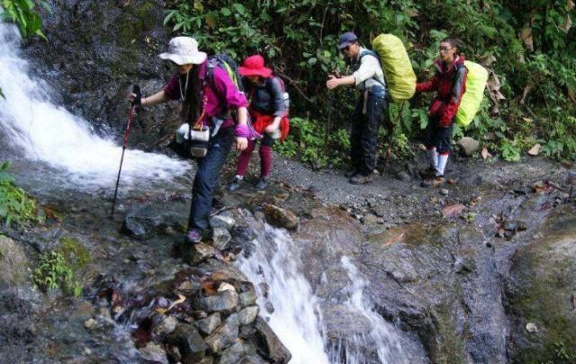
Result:
[[[342,315],[351,320],[350,326],[363,321],[366,330],[364,333],[345,333],[334,345],[334,338],[329,338],[326,332],[328,323],[323,323],[334,317],[323,317],[322,298],[312,293],[310,283],[302,274],[301,259],[290,235],[266,225],[266,231],[254,243],[249,257],[240,258],[238,265],[256,286],[257,303],[262,310],[260,315],[268,320],[270,327],[292,353],[291,364],[410,362],[402,352],[400,339],[394,333],[392,324],[374,312],[364,294],[367,282],[347,257],[343,257],[340,264],[350,282],[342,292],[343,298],[336,304],[351,314]],[[335,302],[330,301],[329,304]],[[270,313],[272,310],[266,307],[274,307],[274,311]],[[346,325],[343,328],[345,332]]]

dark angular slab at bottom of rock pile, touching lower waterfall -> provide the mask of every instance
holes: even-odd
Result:
[[[266,321],[257,316],[254,322],[255,333],[247,337],[247,341],[257,347],[264,359],[273,363],[287,363],[292,358],[290,351],[280,342]]]

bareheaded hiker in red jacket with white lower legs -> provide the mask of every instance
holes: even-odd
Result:
[[[437,92],[428,107],[428,126],[424,132],[429,166],[422,187],[445,182],[444,173],[452,149],[455,115],[466,91],[468,70],[464,67],[464,56],[458,54],[456,40],[442,40],[439,51],[440,58],[434,63],[436,75],[416,85],[417,93]]]

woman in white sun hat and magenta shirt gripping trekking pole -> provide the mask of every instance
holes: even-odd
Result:
[[[220,182],[220,169],[232,145],[242,151],[247,147],[247,100],[230,80],[226,70],[213,67],[209,73],[208,57],[198,50],[198,42],[189,37],[170,40],[168,51],[160,58],[169,60],[175,74],[163,90],[148,97],[130,95],[136,106],[152,106],[161,102],[182,102],[181,116],[189,125],[207,126],[211,138],[206,155],[199,159],[192,188],[192,206],[184,242],[195,244],[211,233],[210,212],[214,190]],[[212,78],[212,79],[209,79]],[[236,111],[237,125],[230,111]],[[220,121],[223,122],[220,123]],[[218,121],[218,123],[217,123]],[[214,129],[220,129],[214,134]]]

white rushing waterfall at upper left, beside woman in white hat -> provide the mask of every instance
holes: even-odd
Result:
[[[17,28],[0,22],[0,138],[26,158],[67,173],[73,186],[113,188],[121,146],[96,136],[86,120],[49,101],[48,84],[30,76],[20,44]],[[121,185],[168,181],[187,170],[189,164],[166,155],[127,150]]]

